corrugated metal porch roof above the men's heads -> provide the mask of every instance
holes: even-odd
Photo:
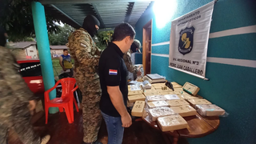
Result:
[[[82,26],[83,19],[88,14],[98,18],[101,22],[101,29],[113,28],[122,22],[128,22],[131,26],[135,26],[150,2],[58,3],[46,5],[46,13],[55,15],[62,22],[75,28]]]

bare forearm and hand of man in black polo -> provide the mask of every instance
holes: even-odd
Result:
[[[126,110],[126,106],[123,103],[122,93],[119,86],[107,86],[107,92],[110,94],[110,100],[114,105],[114,108],[118,110],[118,113],[122,118],[122,127],[129,127],[132,122],[130,114]]]

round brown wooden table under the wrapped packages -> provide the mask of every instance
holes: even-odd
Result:
[[[202,117],[200,114],[196,114],[190,117],[184,117],[189,127],[182,130],[174,130],[173,132],[162,132],[173,136],[173,144],[177,144],[178,138],[201,138],[217,130],[219,126],[218,117]],[[158,127],[157,122],[148,122],[145,118],[142,120],[148,123],[151,127],[157,130],[161,130]],[[162,131],[162,130],[161,130]]]

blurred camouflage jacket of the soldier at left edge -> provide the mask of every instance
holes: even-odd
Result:
[[[28,102],[35,99],[18,73],[18,68],[16,58],[10,50],[0,46],[0,109],[12,106],[14,102]]]

